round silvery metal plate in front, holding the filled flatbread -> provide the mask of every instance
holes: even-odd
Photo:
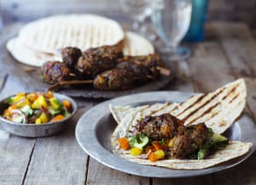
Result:
[[[125,159],[115,156],[111,152],[111,135],[116,123],[108,109],[108,104],[112,105],[142,105],[152,102],[185,101],[192,93],[183,93],[178,91],[159,91],[148,92],[137,95],[126,95],[115,98],[110,101],[104,101],[96,107],[91,108],[79,119],[76,127],[76,138],[80,147],[84,149],[90,157],[118,171],[123,171],[137,176],[149,177],[184,177],[184,176],[201,176],[216,171],[223,171],[241,163],[247,159],[256,149],[256,125],[246,115],[234,123],[224,135],[230,140],[241,142],[253,142],[251,150],[236,159],[225,163],[214,165],[203,170],[172,170],[163,167],[139,165]]]

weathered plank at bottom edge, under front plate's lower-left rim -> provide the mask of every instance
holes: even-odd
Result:
[[[132,176],[112,170],[92,158],[90,158],[89,169],[86,185],[149,185],[149,178],[147,177]]]

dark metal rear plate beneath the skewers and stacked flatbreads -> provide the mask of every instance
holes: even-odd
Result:
[[[13,35],[9,38],[14,37]],[[15,60],[15,58],[9,54],[9,51],[5,47],[5,42],[1,45],[2,55],[0,55],[0,60],[3,65],[6,66],[6,70],[9,74],[19,78],[26,84],[32,84],[33,88],[38,91],[46,90],[49,88],[49,84],[44,83],[41,78],[40,68],[27,66]],[[172,70],[172,62],[165,62],[166,68]],[[96,90],[91,85],[84,85],[83,88],[73,87],[64,88],[58,90],[59,93],[64,95],[69,95],[73,97],[85,97],[85,98],[113,98],[121,95],[131,95],[135,93],[141,93],[145,91],[159,90],[165,87],[172,81],[172,74],[168,77],[161,75],[155,80],[148,81],[148,83],[142,84],[130,90],[114,90],[114,91],[104,91]]]

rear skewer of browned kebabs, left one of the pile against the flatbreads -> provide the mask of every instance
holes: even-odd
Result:
[[[42,78],[49,84],[66,80],[95,78],[99,72],[113,68],[115,55],[122,56],[115,47],[103,46],[82,53],[79,48],[61,49],[62,61],[47,61],[41,69]]]

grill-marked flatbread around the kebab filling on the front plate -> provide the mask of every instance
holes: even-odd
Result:
[[[120,137],[130,136],[137,120],[144,118],[146,115],[157,116],[163,113],[171,113],[177,119],[183,119],[185,125],[204,122],[215,133],[222,134],[240,116],[245,107],[246,96],[246,84],[243,79],[238,79],[211,93],[194,95],[182,103],[154,103],[139,107],[110,105],[110,112],[118,123],[112,136],[113,153],[121,158],[143,165],[157,165],[185,170],[204,169],[235,159],[247,153],[252,147],[252,143],[230,141],[227,147],[219,149],[207,159],[163,159],[150,162],[148,159],[139,156],[131,156],[129,151],[120,149],[116,141]]]

